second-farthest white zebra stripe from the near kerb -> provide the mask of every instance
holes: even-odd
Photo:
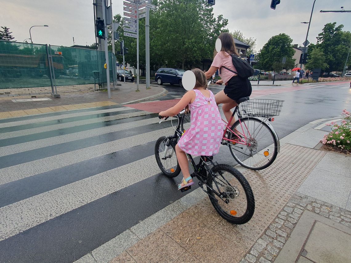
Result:
[[[146,112],[146,111],[143,111],[143,112],[131,112],[131,113],[124,113],[124,114],[114,115],[114,116],[100,117],[100,118],[90,119],[90,120],[81,120],[81,121],[72,121],[72,122],[61,123],[61,124],[53,124],[53,125],[50,125],[50,126],[45,126],[45,127],[40,127],[40,128],[32,128],[32,129],[26,129],[26,130],[10,131],[8,133],[1,133],[0,134],[0,140],[8,139],[8,138],[14,138],[14,137],[18,137],[18,136],[42,133],[42,132],[45,132],[45,131],[52,131],[52,130],[59,130],[59,129],[64,129],[64,128],[71,128],[71,127],[81,126],[81,125],[85,125],[85,124],[92,124],[92,123],[98,123],[98,122],[104,122],[104,121],[119,120],[119,119],[124,119],[124,118],[129,118],[129,117],[136,117],[136,116],[147,115],[147,114],[151,114],[151,113],[150,112]]]

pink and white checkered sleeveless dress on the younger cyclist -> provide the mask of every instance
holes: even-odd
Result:
[[[178,146],[193,156],[216,155],[223,137],[224,123],[211,90],[209,90],[209,98],[205,97],[200,90],[193,90],[196,97],[194,102],[189,104],[191,126],[181,136]]]

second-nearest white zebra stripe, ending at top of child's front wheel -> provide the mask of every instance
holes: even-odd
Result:
[[[99,145],[70,151],[68,153],[2,168],[0,169],[0,185],[65,167],[70,164],[86,161],[105,154],[114,153],[115,151],[155,141],[161,136],[171,135],[172,131],[174,133],[173,128],[168,127],[165,129],[126,137],[112,142],[106,142]]]

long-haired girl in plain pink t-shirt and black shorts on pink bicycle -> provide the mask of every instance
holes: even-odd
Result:
[[[216,84],[220,85],[224,83],[225,87],[224,90],[218,92],[214,97],[216,98],[217,104],[223,103],[222,110],[227,121],[229,121],[233,113],[231,109],[237,106],[236,101],[242,97],[250,96],[252,88],[249,79],[243,79],[230,70],[222,68],[225,66],[236,71],[231,55],[239,56],[239,54],[234,43],[234,38],[231,34],[221,33],[218,38],[221,40],[222,48],[218,53],[214,50],[212,65],[205,75],[206,79],[209,79],[213,73],[219,69],[219,76],[221,79],[218,80]],[[230,125],[234,122],[235,119],[233,118]]]

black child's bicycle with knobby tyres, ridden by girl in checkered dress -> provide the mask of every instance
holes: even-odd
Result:
[[[155,156],[161,171],[168,177],[176,177],[180,173],[180,167],[176,156],[176,144],[183,131],[180,130],[183,123],[185,110],[175,116],[177,127],[172,136],[160,137],[155,144]],[[160,123],[167,118],[159,116]],[[253,216],[255,200],[249,182],[235,168],[227,164],[214,163],[212,156],[200,156],[198,164],[190,154],[186,154],[194,173],[191,177],[199,180],[199,186],[204,190],[210,201],[225,220],[234,224],[245,224]],[[210,168],[212,166],[212,168]],[[186,191],[191,186],[181,189]]]

